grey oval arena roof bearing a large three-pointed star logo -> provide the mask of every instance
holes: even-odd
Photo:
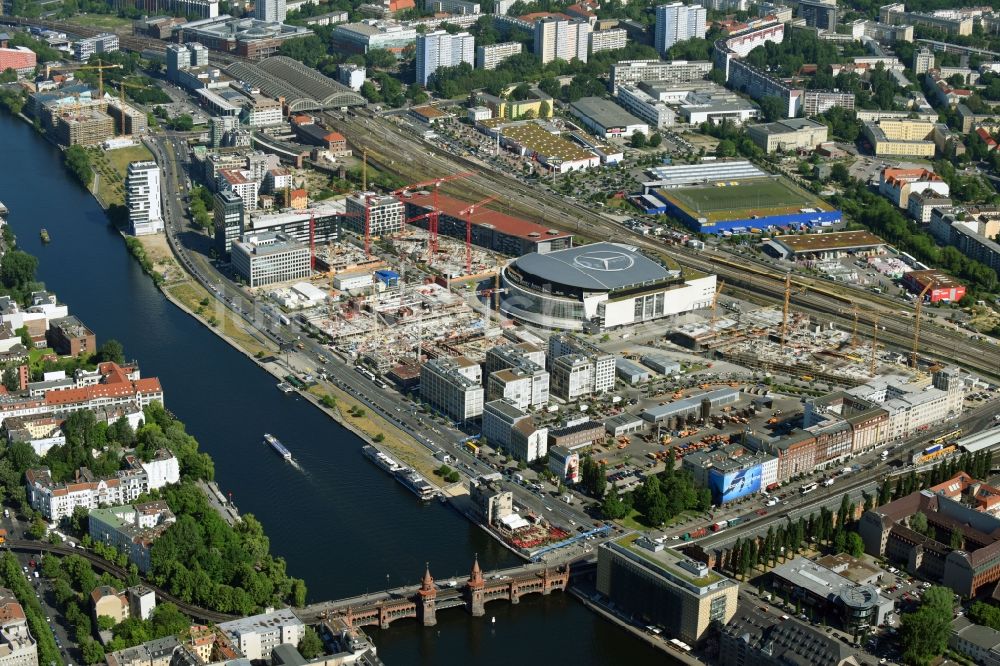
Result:
[[[593,243],[546,254],[531,253],[511,266],[524,280],[589,292],[615,291],[670,280],[665,267],[636,248]]]

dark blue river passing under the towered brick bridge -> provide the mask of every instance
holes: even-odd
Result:
[[[104,211],[26,123],[0,113],[0,201],[39,279],[97,335],[116,338],[143,375],[159,377],[166,404],[215,460],[215,476],[253,513],[271,550],[304,578],[310,601],[467,575],[516,558],[449,507],[417,499],[360,453],[361,441],[168,302],[128,255]],[[39,229],[52,242],[42,245]],[[274,433],[301,468],[262,440]],[[567,595],[496,602],[487,618],[461,610],[438,626],[400,621],[374,631],[387,666],[408,664],[663,663],[663,653]],[[490,622],[489,616],[496,618]]]

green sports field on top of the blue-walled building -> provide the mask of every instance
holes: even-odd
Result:
[[[660,190],[660,194],[693,217],[704,217],[710,222],[783,215],[802,208],[831,210],[812,194],[780,178],[726,181]]]

